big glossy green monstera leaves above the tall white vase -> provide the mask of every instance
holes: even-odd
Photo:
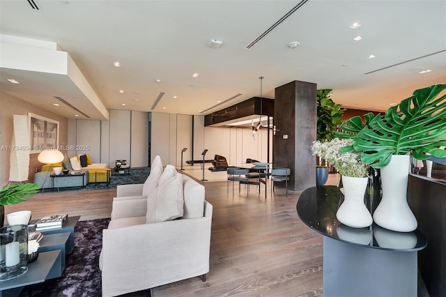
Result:
[[[413,153],[418,160],[446,157],[446,84],[413,92],[413,96],[387,109],[384,115],[354,116],[341,125],[339,138],[353,138],[344,152],[360,151],[361,160],[374,168],[387,165],[392,155]],[[430,155],[427,155],[427,154]]]

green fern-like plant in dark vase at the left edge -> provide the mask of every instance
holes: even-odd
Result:
[[[26,201],[24,198],[36,194],[40,186],[36,183],[10,183],[0,190],[0,227],[5,220],[5,205]]]

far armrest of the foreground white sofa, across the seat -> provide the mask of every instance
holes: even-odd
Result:
[[[147,197],[125,197],[130,199],[114,200],[112,205],[112,220],[122,218],[145,217],[147,213]],[[134,199],[132,199],[134,198]]]

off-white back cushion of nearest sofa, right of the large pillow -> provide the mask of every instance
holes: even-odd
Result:
[[[183,219],[201,218],[204,215],[204,185],[189,176],[183,176],[184,214]]]

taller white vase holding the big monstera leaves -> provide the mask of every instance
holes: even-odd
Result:
[[[383,197],[374,212],[380,227],[399,232],[417,229],[417,219],[407,202],[410,155],[392,155],[390,163],[380,169]]]

